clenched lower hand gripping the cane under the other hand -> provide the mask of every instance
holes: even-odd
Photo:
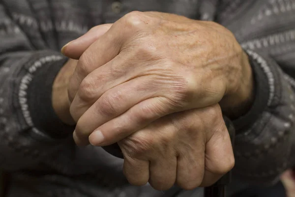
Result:
[[[235,163],[218,104],[162,117],[118,145],[128,181],[157,190],[212,185]]]

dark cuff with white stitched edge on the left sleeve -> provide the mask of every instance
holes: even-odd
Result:
[[[52,107],[52,85],[67,58],[55,51],[34,53],[25,65],[20,104],[27,124],[53,138],[67,137],[73,126],[64,124]],[[27,103],[26,103],[27,102]]]

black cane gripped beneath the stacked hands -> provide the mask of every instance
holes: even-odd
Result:
[[[234,129],[232,122],[227,117],[224,116],[223,119],[229,131],[231,142],[234,147],[236,131]],[[105,146],[103,147],[103,149],[107,151],[108,153],[114,155],[115,157],[123,159],[122,152],[117,143],[111,146]],[[210,187],[206,187],[204,189],[204,197],[226,197],[226,185],[231,182],[231,178],[232,178],[232,173],[230,171],[227,174],[225,174],[223,177],[221,177],[214,185]],[[175,190],[178,190],[178,189],[176,188]],[[174,196],[173,195],[174,193],[176,193],[176,191],[171,191],[172,196]],[[169,193],[166,196],[171,196],[171,195]]]

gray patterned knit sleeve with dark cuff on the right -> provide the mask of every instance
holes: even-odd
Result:
[[[295,165],[295,0],[234,2],[218,21],[248,53],[255,78],[252,108],[234,121],[234,172],[267,184]]]

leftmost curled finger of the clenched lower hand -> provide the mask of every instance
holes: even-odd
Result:
[[[131,185],[143,186],[149,179],[149,162],[125,156],[124,150],[123,173]]]

